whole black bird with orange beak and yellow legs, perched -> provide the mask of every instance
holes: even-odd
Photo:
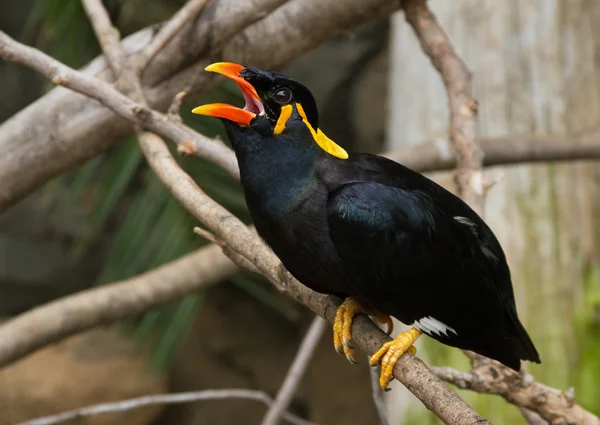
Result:
[[[232,63],[207,71],[234,80],[246,99],[199,106],[221,118],[260,236],[309,288],[343,298],[334,344],[354,361],[357,313],[411,325],[371,358],[380,384],[425,333],[520,369],[540,363],[519,321],[498,240],[458,197],[386,158],[349,155],[320,130],[310,91],[282,74]]]

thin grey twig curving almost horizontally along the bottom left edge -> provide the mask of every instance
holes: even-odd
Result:
[[[144,397],[118,401],[115,403],[96,404],[94,406],[82,407],[80,409],[59,413],[58,415],[32,419],[30,421],[21,422],[17,425],[55,425],[73,419],[102,415],[106,413],[126,412],[156,404],[182,404],[193,403],[197,401],[234,399],[257,401],[265,406],[273,405],[273,399],[263,391],[236,388],[224,390],[204,390],[175,394],[148,395]],[[316,425],[314,422],[299,418],[298,416],[288,412],[283,413],[283,418],[294,425]]]

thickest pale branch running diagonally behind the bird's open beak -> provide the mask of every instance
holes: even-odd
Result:
[[[166,109],[176,93],[214,85],[216,77],[202,72],[209,60],[275,68],[349,28],[387,16],[399,4],[398,0],[213,0],[154,57],[144,72],[144,93],[152,108]],[[125,40],[125,50],[142,55],[152,34],[152,28],[133,34]],[[0,46],[3,43],[0,40]],[[110,75],[105,70],[106,63],[99,58],[85,72],[106,79]],[[0,211],[131,133],[127,121],[97,102],[52,90],[0,125]],[[180,137],[195,140],[189,133]],[[221,160],[229,158],[233,155],[223,154]]]

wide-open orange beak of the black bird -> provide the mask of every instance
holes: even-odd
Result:
[[[240,75],[240,71],[243,69],[242,65],[231,62],[217,62],[205,68],[206,71],[223,74],[237,84],[246,101],[244,108],[238,108],[226,103],[211,103],[192,109],[192,113],[225,118],[240,125],[250,125],[250,122],[257,114],[264,112],[264,107],[260,101],[260,96],[256,93],[256,89]]]

